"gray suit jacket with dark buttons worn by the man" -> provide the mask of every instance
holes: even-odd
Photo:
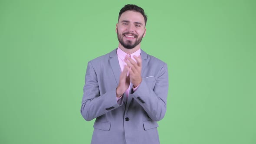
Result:
[[[88,62],[81,114],[86,121],[96,118],[91,144],[159,144],[156,121],[166,112],[167,65],[141,50],[142,82],[135,92],[131,84],[118,105],[116,50]]]

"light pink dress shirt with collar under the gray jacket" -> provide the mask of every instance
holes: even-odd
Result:
[[[117,56],[118,56],[118,61],[119,61],[119,65],[120,65],[120,69],[121,69],[121,72],[123,72],[124,68],[125,68],[125,56],[130,56],[131,59],[133,59],[135,62],[136,60],[134,59],[133,56],[140,56],[141,55],[141,49],[138,49],[136,52],[132,53],[131,55],[128,55],[127,53],[125,53],[124,51],[122,51],[119,47],[117,49]],[[130,86],[131,86],[131,83],[130,83]],[[129,88],[125,91],[125,94],[126,96],[128,97],[129,95],[129,90],[130,90],[130,86]],[[139,87],[139,85],[136,87],[136,88],[133,88],[133,91],[136,91],[136,89]],[[121,96],[122,97],[122,96]],[[121,98],[120,97],[120,98]],[[120,99],[120,98],[116,98],[117,101]]]

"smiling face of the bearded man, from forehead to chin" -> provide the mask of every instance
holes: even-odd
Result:
[[[135,11],[125,11],[116,24],[116,33],[119,43],[125,49],[135,48],[146,34],[144,17]]]

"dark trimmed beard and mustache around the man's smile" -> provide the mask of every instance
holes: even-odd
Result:
[[[135,36],[136,40],[133,43],[131,40],[126,40],[126,42],[123,40],[123,37],[125,35],[131,34],[132,36]],[[144,33],[143,33],[144,35]],[[118,30],[117,30],[117,38],[119,43],[125,48],[125,49],[133,49],[135,48],[135,46],[138,46],[138,44],[141,43],[141,40],[143,38],[143,35],[141,37],[138,37],[138,35],[134,34],[134,33],[123,33],[123,34],[119,34]]]

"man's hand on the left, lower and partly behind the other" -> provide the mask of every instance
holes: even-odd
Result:
[[[130,86],[130,79],[127,76],[129,67],[125,65],[123,72],[120,75],[119,83],[116,88],[116,97],[121,97]]]

